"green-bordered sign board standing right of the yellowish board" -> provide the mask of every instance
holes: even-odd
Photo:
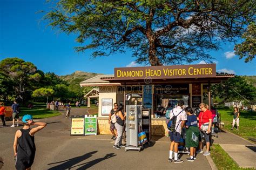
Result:
[[[85,115],[84,119],[85,135],[97,135],[97,115]]]

